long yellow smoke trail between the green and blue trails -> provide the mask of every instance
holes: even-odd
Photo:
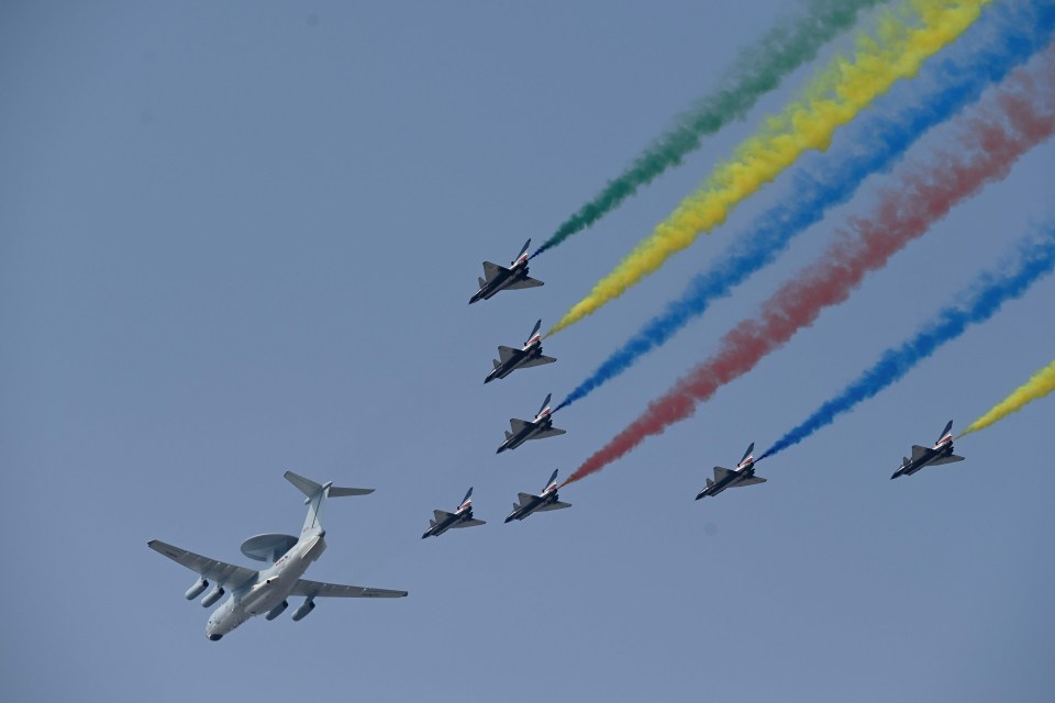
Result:
[[[849,122],[900,78],[956,40],[989,0],[907,0],[882,13],[875,36],[857,37],[854,58],[836,56],[800,99],[769,118],[756,136],[740,145],[707,182],[634,247],[590,293],[546,334],[554,334],[619,298],[700,232],[725,221],[744,198],[771,181],[807,149],[828,148],[835,130]]]

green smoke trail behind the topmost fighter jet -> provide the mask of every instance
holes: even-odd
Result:
[[[810,0],[806,16],[780,22],[754,46],[740,53],[723,87],[697,102],[676,124],[649,144],[630,166],[589,202],[560,223],[532,258],[591,226],[618,208],[637,189],[651,183],[700,147],[733,120],[743,120],[758,98],[775,89],[800,66],[813,60],[818,49],[852,26],[862,10],[880,0]]]

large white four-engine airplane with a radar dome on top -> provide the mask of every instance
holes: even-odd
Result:
[[[201,599],[202,607],[209,607],[219,601],[230,589],[231,595],[214,610],[206,625],[206,637],[218,641],[235,627],[254,615],[264,615],[275,620],[289,607],[288,599],[303,596],[304,602],[293,611],[293,621],[303,620],[315,609],[316,598],[403,598],[407,591],[389,591],[362,585],[342,585],[321,583],[300,578],[325,550],[326,531],[322,527],[322,513],[326,498],[342,495],[366,495],[371,488],[338,488],[329,481],[323,484],[310,481],[292,471],[286,471],[286,479],[307,495],[308,517],[300,531],[300,537],[282,534],[264,534],[249,537],[242,543],[242,554],[257,561],[269,562],[266,569],[255,571],[234,566],[225,561],[210,559],[193,551],[151,539],[146,545],[198,574],[198,580],[185,594],[188,601],[201,595],[209,588],[209,580],[215,581],[215,588]]]

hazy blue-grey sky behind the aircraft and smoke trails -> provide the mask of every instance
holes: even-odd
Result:
[[[543,288],[468,306],[480,263],[541,244],[795,11],[3,3],[0,696],[1047,700],[1055,476],[1039,440],[1055,401],[958,442],[964,462],[889,476],[1051,361],[1055,279],[760,464],[764,486],[692,499],[1050,219],[1051,143],[692,420],[564,489],[573,509],[502,524],[518,492],[625,427],[889,179],[555,415],[566,435],[496,456],[509,417],[579,383],[779,202],[793,169],[547,339],[556,364],[485,387],[496,347],[555,322],[819,64],[533,260]],[[853,138],[867,134],[849,125],[833,148]],[[307,577],[410,596],[327,600],[210,643],[207,611],[182,596],[193,574],[146,542],[251,565],[243,539],[303,520],[287,469],[377,489],[329,505]],[[488,524],[420,539],[469,486]]]

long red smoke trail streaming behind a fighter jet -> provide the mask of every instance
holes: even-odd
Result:
[[[1003,178],[1014,161],[1055,131],[1055,48],[1019,69],[995,99],[957,120],[962,131],[955,153],[939,153],[931,164],[909,164],[900,182],[880,194],[870,217],[854,217],[821,259],[785,283],[755,320],[731,330],[719,352],[693,368],[665,395],[604,447],[563,486],[573,483],[631,451],[651,435],[690,417],[714,391],[746,373],[767,354],[809,326],[821,311],[840,303],[865,274],[881,268],[906,244],[926,232],[953,205],[989,181]]]

